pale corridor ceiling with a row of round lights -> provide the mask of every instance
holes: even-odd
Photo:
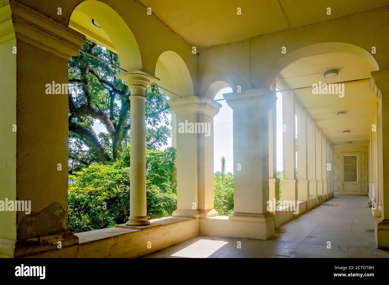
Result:
[[[337,69],[339,74],[325,78],[324,72],[329,69]],[[337,83],[369,78],[373,70],[371,64],[359,56],[336,52],[301,58],[282,70],[280,76],[289,88],[300,88],[319,84],[319,81]],[[368,80],[346,83],[344,88],[344,97],[314,95],[312,88],[295,90],[295,94],[331,144],[345,144],[347,141],[368,144],[378,99],[370,90]],[[347,114],[336,114],[342,111]],[[350,130],[350,133],[343,134],[343,130]]]

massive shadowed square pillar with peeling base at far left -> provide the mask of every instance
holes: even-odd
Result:
[[[18,1],[2,4],[0,200],[29,209],[0,212],[0,256],[58,250],[60,242],[61,256],[74,257],[67,251],[79,242],[67,226],[68,60],[86,39]],[[47,84],[63,89],[46,93]]]

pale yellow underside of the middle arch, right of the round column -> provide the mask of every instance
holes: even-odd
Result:
[[[166,90],[170,99],[189,97],[194,95],[193,81],[189,70],[182,58],[174,51],[164,51],[159,55],[155,76],[160,80],[158,84]],[[176,95],[175,95],[176,94]]]

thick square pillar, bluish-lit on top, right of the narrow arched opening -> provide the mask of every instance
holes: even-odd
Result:
[[[233,109],[234,213],[229,219],[259,223],[264,238],[269,238],[274,234],[274,215],[267,210],[268,111],[275,93],[255,89],[224,98]]]

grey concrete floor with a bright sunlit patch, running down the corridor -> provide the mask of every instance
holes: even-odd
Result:
[[[213,257],[382,257],[389,251],[375,246],[375,222],[367,196],[337,195],[276,230],[267,241],[228,237],[198,236],[144,258]],[[326,206],[332,204],[334,206]],[[327,248],[328,241],[331,248]],[[238,242],[241,248],[237,248]]]

